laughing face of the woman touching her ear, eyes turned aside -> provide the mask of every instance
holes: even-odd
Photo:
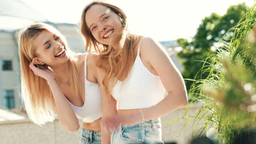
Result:
[[[66,55],[65,43],[58,35],[49,31],[42,31],[34,39],[34,49],[36,57],[33,58],[34,64],[47,64],[49,66],[56,66],[68,61]]]

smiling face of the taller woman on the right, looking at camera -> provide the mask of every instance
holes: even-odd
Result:
[[[92,5],[85,14],[85,22],[98,43],[109,45],[112,40],[120,39],[123,25],[120,17],[108,7]]]

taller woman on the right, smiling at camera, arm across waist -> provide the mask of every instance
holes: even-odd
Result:
[[[129,33],[124,12],[102,1],[84,8],[81,32],[86,50],[100,53],[102,127],[118,129],[111,143],[163,143],[159,117],[188,103],[183,78],[166,51],[152,38]]]

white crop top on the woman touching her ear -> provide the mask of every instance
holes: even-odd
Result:
[[[84,58],[84,76],[85,76],[85,102],[82,107],[78,107],[69,102],[78,119],[83,122],[91,123],[102,116],[101,111],[101,92],[98,83],[92,83],[87,80],[87,56]]]

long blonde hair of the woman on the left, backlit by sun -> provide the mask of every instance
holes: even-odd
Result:
[[[73,93],[79,94],[78,68],[75,65],[77,58],[74,52],[68,48],[65,37],[54,27],[46,23],[34,23],[19,32],[19,54],[21,65],[21,98],[26,107],[27,115],[36,124],[42,125],[55,119],[54,98],[51,89],[45,79],[33,73],[29,65],[37,56],[34,49],[34,40],[42,31],[49,31],[58,35],[66,46],[69,56],[69,80]],[[44,64],[45,67],[48,65]],[[54,72],[54,71],[53,71]]]

